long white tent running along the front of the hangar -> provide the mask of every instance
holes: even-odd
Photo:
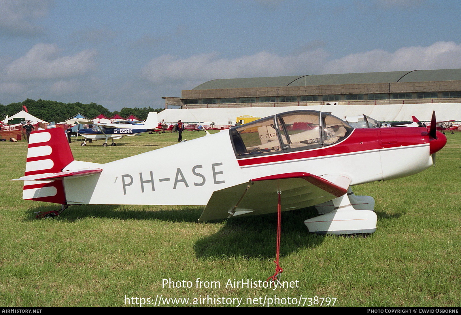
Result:
[[[296,110],[331,112],[342,119],[346,116],[365,114],[379,121],[409,121],[412,116],[417,117],[420,121],[430,121],[432,111],[436,111],[437,121],[461,121],[461,103],[165,109],[159,113],[159,120],[164,119],[165,122],[177,122],[179,119],[183,122],[236,122],[236,118],[243,115],[262,118]]]

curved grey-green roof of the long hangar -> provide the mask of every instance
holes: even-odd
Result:
[[[286,87],[335,84],[393,82],[430,82],[461,80],[461,69],[408,70],[390,72],[344,73],[307,76],[269,76],[261,78],[217,79],[194,87],[194,90],[245,87]]]

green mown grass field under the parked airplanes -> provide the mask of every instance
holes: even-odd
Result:
[[[183,138],[202,135],[184,132]],[[276,295],[286,306],[288,298],[307,306],[308,298],[334,297],[340,307],[460,307],[461,134],[447,138],[435,167],[355,187],[356,194],[376,200],[378,229],[370,237],[311,235],[303,221],[315,216],[312,209],[285,212],[282,280],[299,287],[276,290],[226,287],[228,279],[259,281],[273,274],[275,214],[197,223],[202,208],[88,205],[36,220],[35,211],[59,206],[22,199],[21,183],[8,180],[24,175],[27,144],[0,142],[0,307],[133,306],[124,298],[154,303],[160,295],[189,298],[189,304],[203,304],[197,300],[203,297],[221,303],[243,298],[241,306],[248,306],[247,298],[262,303]],[[144,134],[118,140],[118,146],[96,141],[71,147],[77,160],[106,163],[176,140],[177,134]],[[197,278],[220,287],[197,288]],[[163,279],[192,285],[162,287]]]

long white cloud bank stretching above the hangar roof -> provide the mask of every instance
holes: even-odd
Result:
[[[258,52],[234,59],[219,58],[217,53],[188,58],[163,55],[146,64],[141,76],[156,86],[190,89],[221,78],[461,68],[461,44],[455,42],[402,47],[395,52],[375,49],[333,60],[328,56],[321,48],[288,56]]]

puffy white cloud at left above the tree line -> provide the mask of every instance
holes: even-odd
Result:
[[[60,79],[85,74],[96,66],[95,50],[62,57],[59,52],[55,44],[36,44],[23,57],[6,66],[6,76],[10,80]]]

